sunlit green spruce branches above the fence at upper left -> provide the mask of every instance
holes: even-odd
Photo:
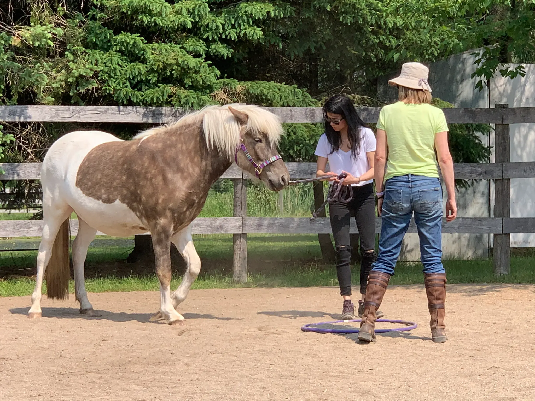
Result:
[[[230,57],[237,43],[266,40],[261,22],[289,12],[277,5],[94,0],[88,12],[67,12],[51,1],[29,3],[32,24],[0,34],[3,104],[198,108],[215,103],[214,92],[232,85],[246,88],[258,104],[312,102],[293,86],[219,79],[219,60]]]

